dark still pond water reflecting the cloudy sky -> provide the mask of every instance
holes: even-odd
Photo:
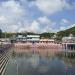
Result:
[[[13,49],[5,75],[75,75],[74,59],[60,59],[44,51],[27,53],[25,50],[22,53]],[[55,52],[52,50],[52,53]]]

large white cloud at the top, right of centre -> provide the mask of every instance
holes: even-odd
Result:
[[[45,14],[53,14],[72,7],[67,0],[36,0],[35,5]]]

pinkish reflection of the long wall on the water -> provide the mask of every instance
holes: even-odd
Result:
[[[29,48],[29,49],[21,49],[21,48],[14,48],[14,52],[16,54],[26,54],[26,55],[33,55],[38,54],[39,56],[55,56],[57,50],[55,49],[38,49],[38,48]]]

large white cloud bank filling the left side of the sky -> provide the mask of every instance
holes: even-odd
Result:
[[[3,31],[15,32],[26,24],[28,13],[21,4],[15,0],[0,3],[0,28]],[[19,23],[21,23],[19,25]]]

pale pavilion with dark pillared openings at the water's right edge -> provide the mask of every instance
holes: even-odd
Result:
[[[72,34],[69,37],[62,38],[62,45],[64,49],[75,50],[75,37]]]

